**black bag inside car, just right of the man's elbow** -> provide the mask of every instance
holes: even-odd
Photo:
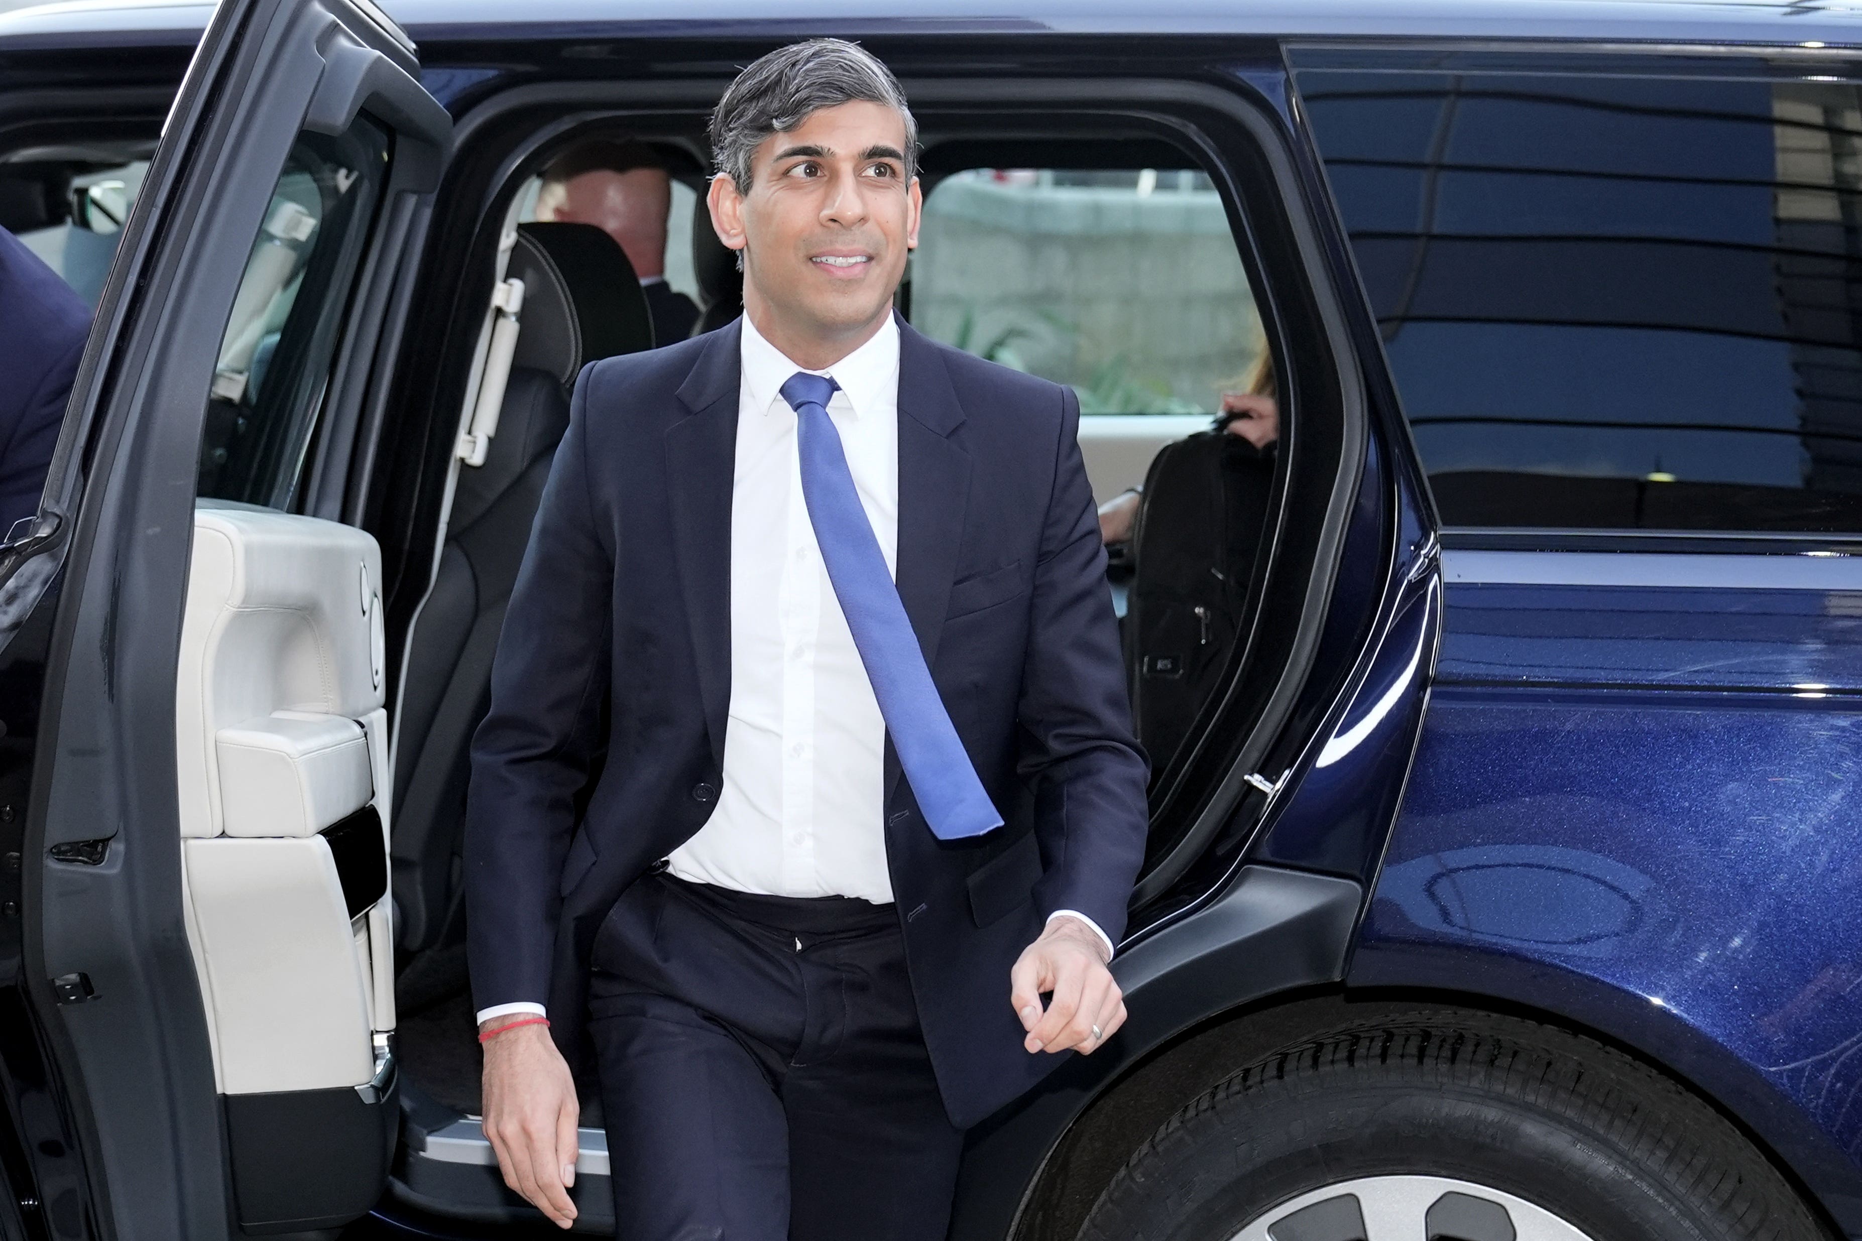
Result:
[[[1138,741],[1162,772],[1221,681],[1266,532],[1274,448],[1199,432],[1145,474],[1125,636]]]

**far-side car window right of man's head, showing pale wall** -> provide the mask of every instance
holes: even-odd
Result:
[[[1259,381],[1261,316],[1199,169],[953,173],[909,279],[914,327],[1073,385],[1084,415],[1207,417]]]

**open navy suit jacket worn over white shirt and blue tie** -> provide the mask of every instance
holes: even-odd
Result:
[[[473,997],[547,1003],[572,1062],[596,927],[722,785],[737,350],[732,324],[583,370],[473,739]],[[1061,908],[1117,940],[1143,860],[1145,757],[1078,420],[1071,389],[901,324],[897,588],[1005,819],[938,841],[886,744],[886,861],[959,1126],[1059,1059],[1022,1049],[1015,958]]]

